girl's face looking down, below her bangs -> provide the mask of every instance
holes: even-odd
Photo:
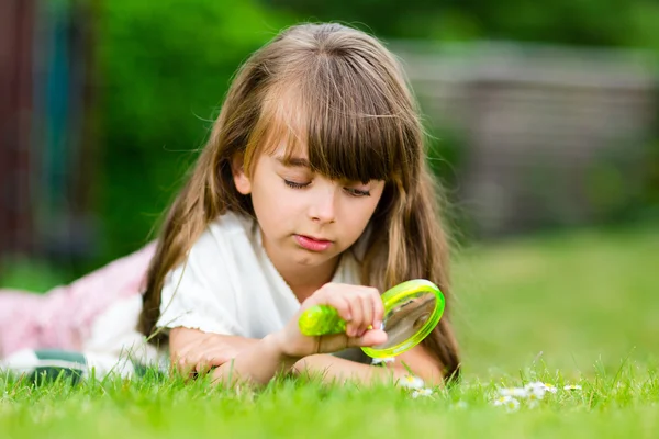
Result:
[[[336,261],[364,233],[384,182],[331,180],[312,172],[306,151],[289,160],[284,153],[261,154],[250,177],[234,172],[238,192],[252,195],[264,247],[287,268]]]

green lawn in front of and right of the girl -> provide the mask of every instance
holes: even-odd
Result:
[[[659,226],[465,249],[454,282],[465,380],[431,397],[302,381],[236,393],[155,376],[0,378],[0,437],[657,437]],[[534,408],[493,405],[499,387],[535,380],[558,392]]]

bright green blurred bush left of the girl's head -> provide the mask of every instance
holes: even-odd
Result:
[[[100,19],[102,260],[90,264],[146,241],[232,75],[287,22],[253,1],[231,0],[104,1]]]

